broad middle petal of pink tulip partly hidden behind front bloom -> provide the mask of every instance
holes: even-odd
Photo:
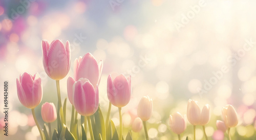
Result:
[[[77,70],[77,79],[87,78],[96,87],[99,80],[99,67],[97,60],[92,54],[87,53],[83,56]]]

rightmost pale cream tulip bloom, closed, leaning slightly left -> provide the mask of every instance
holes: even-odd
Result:
[[[238,125],[238,114],[232,105],[226,105],[222,108],[222,116],[228,128]]]

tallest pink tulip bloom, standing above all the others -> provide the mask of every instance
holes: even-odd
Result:
[[[56,39],[50,44],[47,40],[42,40],[42,56],[44,68],[47,75],[54,79],[60,80],[66,77],[70,69],[70,44],[66,45]]]

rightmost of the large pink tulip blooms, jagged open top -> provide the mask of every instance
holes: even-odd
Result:
[[[112,80],[111,75],[108,77],[108,98],[116,107],[123,107],[131,99],[131,76],[125,77],[123,74],[118,75]]]

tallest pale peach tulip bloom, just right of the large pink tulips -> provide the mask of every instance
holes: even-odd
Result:
[[[150,97],[144,96],[138,105],[138,116],[142,121],[147,121],[151,118],[152,112],[153,101]]]

